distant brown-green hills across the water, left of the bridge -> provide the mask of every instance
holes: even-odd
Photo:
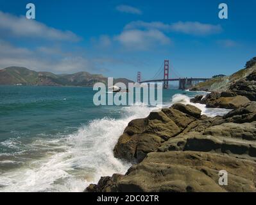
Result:
[[[53,74],[52,72],[36,72],[25,67],[8,67],[0,70],[0,85],[48,85],[48,86],[93,86],[94,83],[106,83],[107,77],[89,72],[75,74]],[[114,79],[114,83],[121,82],[128,86],[133,83],[126,78]]]

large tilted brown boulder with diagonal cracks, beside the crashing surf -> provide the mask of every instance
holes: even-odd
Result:
[[[151,112],[145,119],[132,120],[114,148],[114,156],[127,161],[142,161],[160,144],[180,134],[200,117],[201,110],[191,105],[175,104],[159,112]]]

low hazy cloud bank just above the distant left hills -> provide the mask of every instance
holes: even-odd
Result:
[[[56,73],[96,70],[92,60],[76,53],[65,53],[56,47],[38,47],[29,50],[1,41],[0,69],[10,66]]]

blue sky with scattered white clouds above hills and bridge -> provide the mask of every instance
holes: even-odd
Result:
[[[26,4],[35,19],[26,19]],[[219,19],[219,4],[228,19]],[[210,78],[256,56],[256,0],[0,0],[0,69]]]

